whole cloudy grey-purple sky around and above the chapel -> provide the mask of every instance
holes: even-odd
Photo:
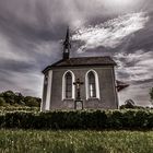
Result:
[[[42,70],[62,56],[111,56],[130,84],[120,104],[150,105],[153,86],[153,0],[0,0],[0,92],[42,96]]]

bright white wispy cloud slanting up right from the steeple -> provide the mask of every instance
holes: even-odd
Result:
[[[96,26],[82,27],[76,31],[72,39],[84,43],[79,52],[99,46],[116,48],[126,36],[143,28],[148,21],[149,16],[144,12],[130,13]]]

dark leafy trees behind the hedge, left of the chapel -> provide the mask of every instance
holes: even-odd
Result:
[[[28,106],[39,107],[40,98],[32,96],[23,96],[21,93],[5,91],[0,93],[0,106]]]

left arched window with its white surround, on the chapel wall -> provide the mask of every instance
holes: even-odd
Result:
[[[62,76],[62,99],[74,98],[74,74],[67,71]]]

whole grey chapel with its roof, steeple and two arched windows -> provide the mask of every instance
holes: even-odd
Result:
[[[70,52],[68,28],[62,59],[43,70],[42,110],[78,109],[80,107],[117,109],[118,91],[125,85],[116,81],[117,63],[110,57],[70,58]]]

